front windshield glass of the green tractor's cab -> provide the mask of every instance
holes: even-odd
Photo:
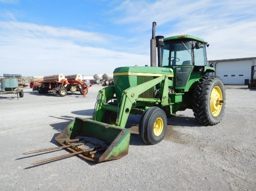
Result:
[[[164,45],[162,66],[192,65],[192,42]]]

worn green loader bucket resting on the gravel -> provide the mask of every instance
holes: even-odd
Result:
[[[106,123],[93,121],[87,118],[76,117],[55,140],[62,146],[66,142],[79,139],[84,145],[69,147],[70,151],[77,153],[84,159],[94,162],[121,159],[128,154],[130,132],[128,129]],[[96,148],[101,148],[96,150]],[[82,152],[90,150],[94,152]]]

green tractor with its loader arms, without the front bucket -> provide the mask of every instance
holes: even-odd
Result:
[[[167,118],[193,109],[195,119],[206,126],[219,123],[225,108],[225,89],[206,57],[208,44],[190,35],[151,39],[151,67],[120,67],[113,72],[114,86],[99,92],[95,121],[125,128],[128,115],[141,115],[139,134],[146,144],[159,143]],[[154,38],[155,37],[155,38]],[[153,41],[153,42],[152,42]],[[156,43],[154,43],[154,41]],[[158,67],[154,53],[158,48]]]

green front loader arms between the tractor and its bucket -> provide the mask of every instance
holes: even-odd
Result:
[[[147,91],[148,89],[154,87],[156,84],[159,84],[159,83],[160,83],[159,98],[139,98],[139,96],[143,92]],[[112,91],[112,93],[109,94],[109,92],[105,90],[100,91],[99,93],[99,100],[101,101],[97,102],[94,120],[101,121],[105,110],[116,111],[117,112],[116,125],[122,128],[125,128],[129,113],[135,102],[155,103],[155,104],[159,104],[160,106],[169,105],[168,75],[163,75],[153,80],[150,80],[148,82],[141,83],[140,85],[125,89],[122,92],[121,102],[117,106],[106,104],[106,102],[108,101],[108,97],[111,97],[111,95],[114,96],[115,94],[115,92],[113,92],[113,88],[112,89],[110,88],[107,90]]]

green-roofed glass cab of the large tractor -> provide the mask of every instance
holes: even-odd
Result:
[[[160,65],[173,70],[175,89],[190,88],[190,85],[187,86],[189,80],[193,83],[193,79],[200,78],[209,69],[206,56],[207,42],[191,35],[168,37],[163,41]]]

